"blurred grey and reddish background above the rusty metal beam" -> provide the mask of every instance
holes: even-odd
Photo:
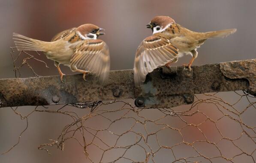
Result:
[[[84,23],[106,29],[106,35],[100,38],[109,46],[111,70],[132,69],[138,45],[151,35],[145,26],[156,15],[168,15],[198,32],[237,28],[225,39],[206,41],[198,49],[194,65],[255,58],[255,0],[1,0],[0,77],[13,77],[9,55],[9,47],[14,46],[12,32],[50,41],[58,32]],[[41,58],[51,69],[42,69],[37,63],[39,75],[58,75],[53,61],[43,55]],[[189,60],[187,56],[177,64]],[[71,73],[68,67],[62,67],[64,73]]]

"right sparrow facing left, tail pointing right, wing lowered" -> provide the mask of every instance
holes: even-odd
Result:
[[[153,35],[145,38],[139,45],[134,61],[134,81],[136,85],[145,81],[146,75],[160,66],[177,62],[179,57],[190,54],[192,59],[184,66],[191,70],[197,57],[196,51],[208,38],[225,37],[236,31],[226,29],[213,32],[193,32],[175,23],[168,16],[154,17],[147,25]]]

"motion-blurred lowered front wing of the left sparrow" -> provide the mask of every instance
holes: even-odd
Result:
[[[110,69],[110,56],[107,44],[102,40],[84,40],[74,47],[70,65],[89,70],[104,82]]]

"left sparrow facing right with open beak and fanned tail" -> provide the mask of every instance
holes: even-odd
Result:
[[[51,42],[39,41],[13,33],[15,45],[19,51],[33,50],[45,52],[48,59],[54,61],[63,82],[60,64],[69,66],[72,71],[85,74],[91,72],[104,81],[110,68],[107,44],[97,39],[104,29],[93,24],[84,24],[77,28],[67,29],[55,35]],[[80,70],[84,69],[84,70]]]

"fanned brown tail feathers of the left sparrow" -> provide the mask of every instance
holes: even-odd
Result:
[[[28,38],[23,35],[19,35],[17,33],[13,33],[13,39],[15,40],[14,43],[19,51],[21,50],[32,50],[32,51],[45,51],[40,46],[39,40],[35,40],[32,38]]]

